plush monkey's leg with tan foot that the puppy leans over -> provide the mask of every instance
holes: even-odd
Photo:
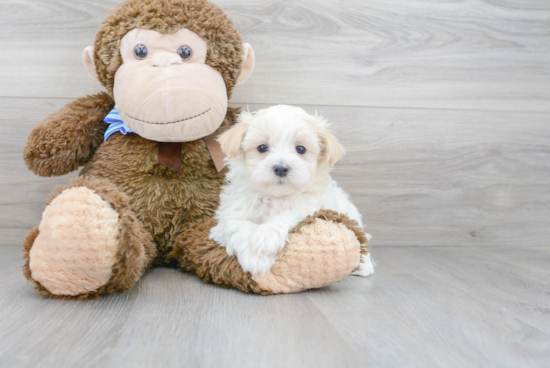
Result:
[[[169,258],[182,271],[224,287],[260,294],[292,293],[340,281],[359,265],[367,239],[355,221],[333,211],[319,211],[292,232],[271,271],[244,272],[236,257],[209,239],[215,220],[193,224],[174,244]]]

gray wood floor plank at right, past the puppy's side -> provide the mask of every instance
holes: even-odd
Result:
[[[348,278],[307,294],[369,365],[548,366],[549,248],[375,248],[373,254],[372,284]],[[518,262],[526,255],[540,262]]]

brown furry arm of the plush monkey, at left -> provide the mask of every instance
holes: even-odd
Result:
[[[39,123],[31,132],[23,158],[40,176],[59,176],[84,165],[103,142],[103,119],[114,101],[105,92],[79,98]]]

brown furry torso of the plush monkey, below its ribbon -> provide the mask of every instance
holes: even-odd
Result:
[[[123,152],[123,154],[121,154]],[[112,135],[81,175],[107,179],[128,195],[151,231],[161,263],[191,223],[214,215],[225,170],[218,173],[202,140],[183,144],[182,172],[158,163],[158,143],[135,134]]]

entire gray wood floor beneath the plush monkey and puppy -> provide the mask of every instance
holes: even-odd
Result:
[[[550,248],[375,248],[376,274],[262,297],[154,269],[99,301],[40,298],[0,247],[0,366],[547,367]]]

